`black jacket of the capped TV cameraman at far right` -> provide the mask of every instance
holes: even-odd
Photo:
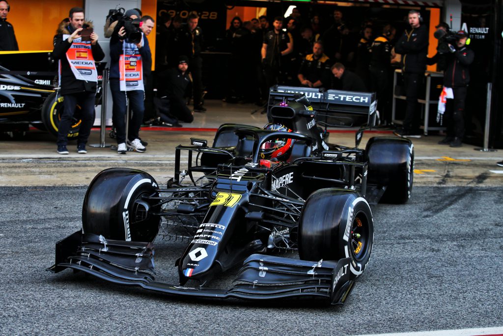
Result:
[[[475,53],[463,46],[447,55],[447,69],[444,73],[444,86],[448,88],[463,87],[470,83],[470,64]]]

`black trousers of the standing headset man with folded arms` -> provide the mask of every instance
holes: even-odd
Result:
[[[419,90],[422,88],[423,74],[403,74],[403,84],[405,88],[405,101],[407,107],[405,109],[405,118],[403,119],[403,129],[417,129],[421,123],[421,111],[418,110],[417,98]]]

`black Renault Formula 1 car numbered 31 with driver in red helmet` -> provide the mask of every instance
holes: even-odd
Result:
[[[283,89],[271,93],[265,129],[223,124],[211,147],[194,138],[178,146],[166,187],[139,170],[99,173],[83,201],[82,230],[56,243],[48,270],[72,268],[173,295],[343,304],[370,259],[369,203],[410,197],[413,146],[394,137],[371,138],[365,150],[328,144],[316,123],[334,117],[332,103],[323,108],[329,92],[311,97],[315,111],[305,89]],[[337,109],[343,119],[366,109],[374,123],[373,94],[336,93],[369,98]],[[179,284],[155,281],[159,227],[163,236],[189,238],[176,262]],[[298,259],[271,255],[278,250],[297,250]],[[239,265],[230,289],[211,288],[215,275]]]

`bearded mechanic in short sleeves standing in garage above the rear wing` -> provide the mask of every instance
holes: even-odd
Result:
[[[283,18],[276,17],[273,26],[274,30],[266,34],[262,44],[262,65],[268,89],[273,85],[284,83],[287,71],[284,56],[293,51],[291,35],[281,30]],[[265,94],[268,95],[269,91]],[[267,97],[263,98],[267,99]]]

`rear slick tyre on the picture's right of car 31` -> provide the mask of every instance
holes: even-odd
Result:
[[[367,184],[386,187],[380,203],[403,204],[412,193],[414,146],[408,139],[370,138],[365,149]]]

